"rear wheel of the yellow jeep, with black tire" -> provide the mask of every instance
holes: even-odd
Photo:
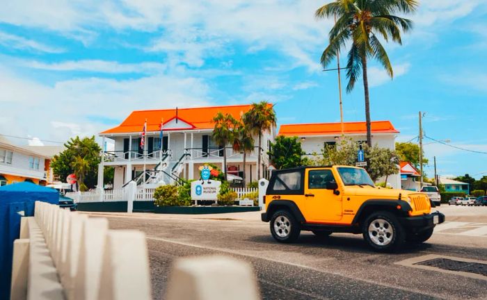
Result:
[[[283,243],[296,242],[301,233],[301,226],[289,210],[278,210],[272,215],[271,222],[272,237]]]

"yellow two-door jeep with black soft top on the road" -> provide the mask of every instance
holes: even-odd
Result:
[[[428,240],[445,222],[426,194],[378,188],[365,169],[350,166],[274,171],[264,203],[262,221],[278,242],[295,242],[301,231],[362,233],[372,248],[394,251]]]

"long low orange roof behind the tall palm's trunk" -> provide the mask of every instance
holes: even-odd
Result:
[[[374,121],[371,124],[372,133],[399,133],[390,121]],[[365,122],[344,122],[345,134],[366,134]],[[340,123],[314,123],[314,124],[283,124],[279,128],[279,135],[303,136],[303,135],[340,135],[342,125]]]

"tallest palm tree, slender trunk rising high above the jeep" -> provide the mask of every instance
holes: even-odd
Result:
[[[367,78],[367,58],[375,58],[392,78],[392,66],[378,36],[386,42],[389,39],[402,44],[401,29],[409,31],[413,23],[409,19],[397,17],[394,13],[408,14],[418,6],[417,0],[335,0],[321,6],[317,18],[337,17],[335,26],[328,33],[330,44],[321,55],[321,65],[326,67],[337,53],[351,40],[346,63],[346,77],[349,83],[346,91],[351,92],[362,71],[365,93],[365,119],[367,122],[367,144],[372,147],[370,128],[369,81]]]

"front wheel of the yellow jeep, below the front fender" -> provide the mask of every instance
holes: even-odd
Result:
[[[381,252],[397,251],[406,240],[406,232],[399,219],[388,211],[367,216],[362,223],[362,235],[372,249]]]

